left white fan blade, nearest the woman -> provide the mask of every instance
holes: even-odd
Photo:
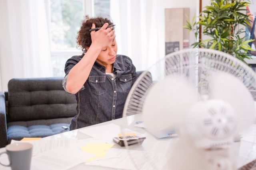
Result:
[[[170,75],[150,88],[142,109],[145,127],[154,130],[180,125],[197,102],[196,87],[181,75]]]

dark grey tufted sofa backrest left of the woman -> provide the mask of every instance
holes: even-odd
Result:
[[[62,78],[14,78],[8,82],[11,121],[54,119],[76,115],[76,98],[62,87]]]

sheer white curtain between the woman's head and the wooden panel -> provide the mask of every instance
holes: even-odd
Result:
[[[164,20],[158,19],[156,0],[110,0],[110,16],[118,53],[130,57],[137,70],[164,57]]]

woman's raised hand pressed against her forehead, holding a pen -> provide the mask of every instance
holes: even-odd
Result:
[[[91,31],[92,44],[97,45],[101,48],[108,46],[113,43],[115,38],[115,31],[112,27],[108,27],[108,23],[104,25],[98,31]],[[92,23],[92,29],[95,28],[95,24]]]

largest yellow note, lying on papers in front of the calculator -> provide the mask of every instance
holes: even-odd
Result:
[[[94,161],[96,158],[104,158],[108,150],[110,150],[110,148],[112,148],[113,146],[113,144],[108,143],[87,143],[83,147],[80,147],[80,149],[83,152],[95,154],[95,156],[86,160],[88,162],[91,162]]]

